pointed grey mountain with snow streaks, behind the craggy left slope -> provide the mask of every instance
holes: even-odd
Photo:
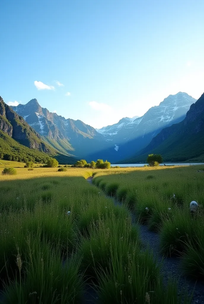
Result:
[[[36,99],[25,105],[13,106],[12,109],[60,153],[86,157],[90,152],[100,151],[101,146],[108,146],[104,136],[93,127],[80,120],[65,119],[51,113],[42,108]]]

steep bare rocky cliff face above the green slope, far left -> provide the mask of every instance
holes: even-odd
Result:
[[[50,152],[50,148],[42,141],[40,135],[6,105],[2,97],[0,97],[0,130],[29,148]]]

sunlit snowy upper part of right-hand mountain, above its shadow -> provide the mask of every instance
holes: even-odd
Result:
[[[159,105],[151,107],[143,116],[124,117],[118,123],[97,130],[113,145],[121,145],[127,141],[141,138],[145,141],[156,136],[161,129],[178,123],[185,118],[186,112],[196,99],[185,92],[169,95]],[[114,146],[113,146],[114,147]]]

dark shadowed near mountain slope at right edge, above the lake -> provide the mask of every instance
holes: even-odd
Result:
[[[182,122],[163,129],[128,162],[144,161],[149,153],[162,154],[164,161],[186,161],[204,154],[204,93]]]

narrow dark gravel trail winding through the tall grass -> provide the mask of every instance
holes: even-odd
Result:
[[[87,178],[88,183],[92,185],[93,177]],[[104,194],[105,195],[105,194]],[[105,195],[107,198],[112,199],[115,205],[122,206],[122,203],[111,196]],[[146,225],[141,225],[138,223],[133,212],[130,212],[132,224],[137,225],[140,228],[141,240],[144,246],[153,252],[155,260],[158,263],[162,263],[161,274],[163,275],[163,282],[166,285],[169,278],[176,278],[178,280],[178,290],[181,291],[182,288],[186,287],[188,290],[189,297],[193,292],[193,298],[191,304],[204,304],[204,281],[196,281],[195,279],[188,278],[182,274],[180,268],[180,258],[179,257],[165,257],[160,253],[159,247],[159,234],[148,230]],[[96,303],[96,302],[86,302]],[[164,303],[165,304],[165,303]]]

